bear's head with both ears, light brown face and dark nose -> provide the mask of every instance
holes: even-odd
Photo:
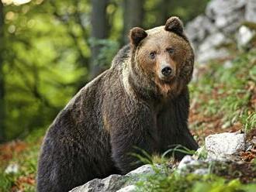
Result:
[[[178,17],[165,26],[130,30],[133,85],[146,96],[177,96],[192,78],[194,53]]]

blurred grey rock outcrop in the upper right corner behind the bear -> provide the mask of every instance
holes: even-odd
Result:
[[[223,43],[237,43],[233,36],[244,21],[256,22],[255,0],[212,0],[206,6],[205,14],[197,16],[185,26],[193,48],[195,61],[207,63],[213,59],[226,59],[230,53],[221,48]],[[244,29],[242,29],[242,32]],[[239,37],[247,42],[251,34]]]

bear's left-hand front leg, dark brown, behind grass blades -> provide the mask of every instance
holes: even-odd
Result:
[[[112,159],[116,167],[125,174],[144,164],[134,156],[134,153],[144,156],[140,149],[148,154],[154,153],[157,148],[157,129],[153,115],[147,108],[132,111],[128,115],[122,114],[122,116],[112,122],[110,142]]]

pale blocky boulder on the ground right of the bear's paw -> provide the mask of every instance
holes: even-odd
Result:
[[[224,132],[209,135],[205,142],[209,159],[233,160],[240,151],[244,151],[245,134]]]

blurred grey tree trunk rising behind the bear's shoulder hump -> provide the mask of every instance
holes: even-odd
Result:
[[[90,78],[97,76],[102,72],[102,63],[97,62],[101,46],[97,43],[99,39],[108,37],[108,19],[106,15],[106,7],[109,0],[92,0],[92,57],[90,64]]]

